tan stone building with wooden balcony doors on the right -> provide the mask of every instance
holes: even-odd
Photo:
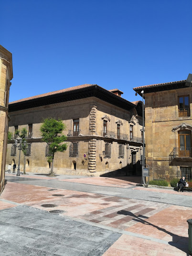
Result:
[[[192,75],[133,88],[144,91],[146,163],[150,179],[192,179]]]

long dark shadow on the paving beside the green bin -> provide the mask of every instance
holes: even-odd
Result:
[[[188,237],[184,237],[184,236],[180,236],[180,235],[175,235],[169,231],[167,231],[166,229],[164,228],[161,228],[159,226],[156,226],[154,224],[151,224],[150,222],[146,221],[146,220],[143,220],[141,218],[144,218],[144,219],[149,219],[149,217],[147,216],[144,216],[144,215],[135,215],[134,213],[131,213],[131,212],[128,212],[128,211],[125,211],[125,210],[121,210],[121,211],[118,211],[117,214],[122,214],[122,215],[125,215],[125,216],[131,216],[132,217],[132,220],[136,221],[136,222],[140,222],[144,225],[150,225],[150,226],[153,226],[155,228],[157,228],[158,230],[168,234],[168,235],[171,235],[172,236],[172,241],[168,242],[169,245],[171,246],[174,246],[178,249],[180,249],[181,251],[185,252],[186,253],[186,256],[190,256],[189,253],[188,253],[188,241],[189,241],[189,238]],[[180,242],[180,243],[178,243]]]

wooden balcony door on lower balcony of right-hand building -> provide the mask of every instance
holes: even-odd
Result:
[[[179,157],[192,157],[192,132],[190,130],[178,131],[179,136]]]

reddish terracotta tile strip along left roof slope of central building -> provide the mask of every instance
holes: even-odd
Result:
[[[90,84],[77,85],[77,86],[69,87],[69,88],[66,88],[66,89],[58,90],[58,91],[53,91],[53,92],[49,92],[49,93],[44,93],[44,94],[40,94],[40,95],[36,95],[36,96],[24,98],[24,99],[12,101],[9,104],[19,103],[19,102],[27,101],[27,100],[31,100],[31,99],[43,98],[45,96],[50,96],[50,95],[60,94],[60,93],[64,93],[64,92],[74,91],[74,90],[77,90],[77,89],[90,87],[90,86],[93,86],[93,85],[90,85]]]

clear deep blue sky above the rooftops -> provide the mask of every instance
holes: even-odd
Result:
[[[133,87],[192,73],[192,0],[7,0],[0,9],[10,102],[85,83],[134,101]]]

